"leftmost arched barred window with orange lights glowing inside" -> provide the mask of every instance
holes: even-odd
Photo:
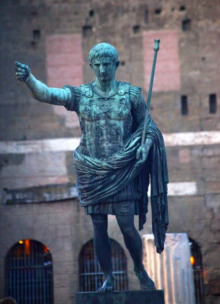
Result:
[[[52,255],[34,240],[20,240],[5,258],[6,296],[18,304],[53,304]]]

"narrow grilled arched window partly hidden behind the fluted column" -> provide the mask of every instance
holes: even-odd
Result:
[[[200,247],[192,239],[190,239],[190,251],[191,251],[191,264],[193,266],[196,303],[205,304],[202,254]]]

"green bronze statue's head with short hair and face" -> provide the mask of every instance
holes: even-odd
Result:
[[[108,43],[99,43],[89,52],[90,66],[99,81],[113,81],[119,66],[118,52]]]

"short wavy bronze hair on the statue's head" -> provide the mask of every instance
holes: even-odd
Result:
[[[114,62],[118,61],[119,54],[117,50],[108,43],[99,43],[89,52],[89,62],[99,57],[111,57]]]

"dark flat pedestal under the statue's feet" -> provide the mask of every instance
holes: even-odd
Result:
[[[164,304],[164,291],[76,292],[76,304]]]

